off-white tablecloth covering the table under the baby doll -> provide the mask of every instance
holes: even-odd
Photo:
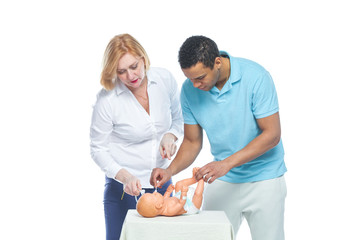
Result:
[[[129,210],[120,240],[234,240],[234,231],[222,211],[200,211],[199,214],[176,217],[145,218]]]

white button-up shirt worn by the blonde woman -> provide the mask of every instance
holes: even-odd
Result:
[[[132,92],[117,81],[113,90],[102,89],[97,95],[90,127],[91,156],[109,178],[124,168],[149,183],[153,168],[167,168],[159,143],[165,133],[177,138],[183,134],[183,118],[177,83],[163,68],[147,72],[150,115]]]

